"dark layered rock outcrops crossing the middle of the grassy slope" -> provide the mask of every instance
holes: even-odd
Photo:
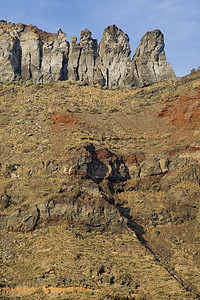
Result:
[[[1,215],[1,226],[14,231],[31,231],[38,226],[52,222],[75,223],[91,227],[102,225],[119,226],[127,224],[128,217],[118,207],[118,200],[113,194],[124,191],[159,192],[170,195],[173,189],[184,182],[196,182],[200,179],[200,151],[185,153],[174,157],[158,157],[147,160],[144,153],[130,156],[116,155],[108,149],[95,150],[92,144],[72,151],[69,161],[64,165],[53,161],[42,162],[28,171],[30,178],[42,174],[60,174],[68,178],[53,196],[29,208],[16,209],[11,215]],[[7,178],[22,177],[20,165],[1,164],[0,175]],[[19,175],[19,177],[18,177]],[[26,174],[24,174],[25,176]],[[178,194],[173,196],[178,198]],[[3,210],[16,205],[15,191],[0,194]],[[18,203],[19,204],[19,203]],[[182,205],[180,203],[180,205]],[[162,214],[162,212],[161,212]],[[176,215],[173,217],[173,215]],[[171,210],[166,213],[167,222],[182,222],[183,213]],[[147,217],[147,216],[146,216]],[[165,221],[166,221],[165,218]],[[148,216],[151,219],[151,216]],[[158,220],[154,220],[158,224]],[[162,222],[161,222],[162,224]]]

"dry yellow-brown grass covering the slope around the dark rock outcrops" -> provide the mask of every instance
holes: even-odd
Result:
[[[199,124],[179,128],[158,115],[165,100],[186,90],[196,95],[199,85],[198,73],[134,90],[71,82],[0,84],[1,214],[48,200],[62,184],[70,186],[67,161],[73,151],[89,143],[96,150],[108,148],[118,155],[144,153],[147,160],[188,151],[198,143]],[[53,112],[75,121],[56,123]],[[152,177],[113,187],[115,204],[129,210],[144,228],[143,238],[160,263],[127,228],[121,233],[64,225],[32,233],[3,229],[2,297],[195,299],[165,265],[168,262],[175,268],[191,290],[198,290],[200,257],[194,253],[199,245],[199,220],[193,215],[187,220],[187,213],[192,214],[191,207],[197,205],[199,183],[177,181],[185,171],[181,168],[159,182]],[[8,201],[6,193],[11,196],[9,207],[3,206]],[[177,216],[183,223],[175,223]]]

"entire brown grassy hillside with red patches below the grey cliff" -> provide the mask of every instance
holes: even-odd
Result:
[[[199,71],[1,84],[1,297],[198,299],[199,126]]]

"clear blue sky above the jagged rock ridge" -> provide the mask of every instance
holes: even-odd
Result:
[[[200,66],[200,0],[0,0],[0,20],[36,25],[80,38],[85,28],[100,42],[117,25],[130,38],[131,57],[147,31],[160,29],[167,62],[178,77]]]

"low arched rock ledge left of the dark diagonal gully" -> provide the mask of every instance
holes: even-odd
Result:
[[[87,194],[85,196],[87,197]],[[50,199],[28,210],[17,210],[12,215],[4,217],[4,222],[7,219],[9,230],[25,232],[34,230],[38,225],[57,221],[78,222],[93,227],[126,223],[118,209],[106,202],[102,196],[88,197],[84,202],[73,200],[75,198],[68,194],[60,199]]]

